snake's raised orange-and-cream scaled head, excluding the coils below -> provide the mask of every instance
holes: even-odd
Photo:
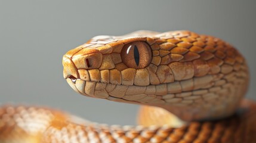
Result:
[[[185,120],[234,113],[248,83],[245,60],[235,48],[189,31],[96,36],[68,51],[63,67],[79,94],[156,105]]]

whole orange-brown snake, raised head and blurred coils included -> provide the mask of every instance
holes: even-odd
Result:
[[[244,99],[248,64],[220,38],[189,30],[95,36],[66,52],[62,64],[64,79],[79,94],[141,105],[139,125],[2,105],[1,143],[256,142],[256,104]]]

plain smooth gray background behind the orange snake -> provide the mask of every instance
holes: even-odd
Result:
[[[256,100],[256,1],[0,1],[0,103],[46,105],[95,122],[135,124],[137,105],[85,98],[62,76],[61,58],[97,35],[187,29],[246,55]]]

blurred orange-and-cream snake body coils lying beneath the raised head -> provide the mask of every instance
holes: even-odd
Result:
[[[255,142],[256,104],[243,101],[240,108],[246,111],[227,119],[171,128],[164,125],[172,120],[171,114],[162,108],[145,107],[140,117],[144,126],[121,127],[90,123],[49,108],[8,105],[0,110],[0,142]]]

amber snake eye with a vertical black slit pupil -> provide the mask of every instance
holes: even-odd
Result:
[[[127,67],[142,69],[152,60],[152,51],[146,42],[135,41],[124,45],[121,57]]]

